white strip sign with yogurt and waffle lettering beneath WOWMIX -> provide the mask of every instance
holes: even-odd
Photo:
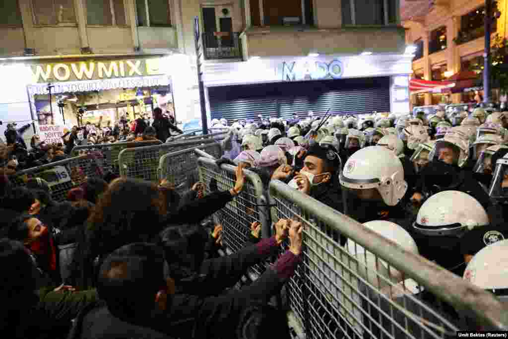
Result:
[[[107,90],[113,88],[135,88],[135,87],[151,87],[151,86],[168,86],[169,78],[166,75],[137,77],[137,78],[118,78],[106,80],[89,80],[89,81],[69,81],[57,82],[51,88],[52,94],[59,93],[77,93],[89,92],[94,90]],[[28,93],[34,95],[47,95],[47,83],[35,84],[28,86]]]

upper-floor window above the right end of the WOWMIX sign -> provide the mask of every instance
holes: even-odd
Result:
[[[138,26],[171,26],[169,0],[136,0]]]

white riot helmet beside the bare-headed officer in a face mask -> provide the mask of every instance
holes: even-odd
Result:
[[[347,160],[340,184],[353,190],[376,189],[388,206],[395,206],[407,190],[402,163],[385,147],[369,146]]]

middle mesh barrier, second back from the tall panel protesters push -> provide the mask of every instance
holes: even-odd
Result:
[[[203,139],[123,149],[118,155],[120,175],[157,181],[157,168],[162,156],[191,147],[199,148],[210,143],[216,144],[213,139]],[[220,148],[220,145],[216,145]]]

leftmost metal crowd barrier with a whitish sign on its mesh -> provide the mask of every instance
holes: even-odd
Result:
[[[102,176],[100,161],[93,155],[82,155],[18,171],[10,180],[17,186],[24,186],[29,178],[44,179],[51,188],[51,198],[63,201],[69,190],[80,186],[87,178]]]

